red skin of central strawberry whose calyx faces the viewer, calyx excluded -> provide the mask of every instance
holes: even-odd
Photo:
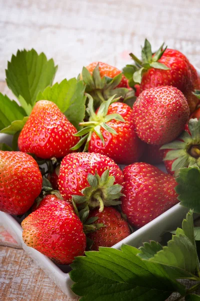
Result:
[[[95,153],[73,153],[61,161],[59,172],[59,191],[66,201],[71,201],[72,195],[81,196],[81,190],[89,186],[88,174],[99,176],[109,169],[109,176],[115,177],[114,184],[123,184],[120,168],[110,158]]]

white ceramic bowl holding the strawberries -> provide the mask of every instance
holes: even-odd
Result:
[[[200,76],[200,72],[198,70]],[[0,134],[0,142],[5,142],[11,144],[11,137]],[[164,171],[164,166],[157,166],[159,169]],[[153,221],[143,226],[142,228],[136,230],[128,237],[124,238],[112,248],[120,249],[122,244],[128,244],[131,246],[139,247],[142,242],[155,240],[160,241],[160,236],[163,232],[168,230],[176,229],[176,227],[181,226],[182,219],[185,217],[187,209],[180,206],[179,204],[173,206]],[[38,251],[26,246],[22,240],[22,228],[19,221],[16,221],[14,217],[4,212],[0,212],[0,223],[4,228],[13,236],[13,238],[22,246],[22,248],[27,252],[35,263],[50,277],[54,283],[69,297],[74,297],[74,293],[71,291],[70,286],[72,281],[68,275],[70,270],[69,266],[66,265],[56,265],[48,257],[42,255]]]

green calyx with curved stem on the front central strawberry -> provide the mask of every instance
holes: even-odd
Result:
[[[103,211],[104,206],[114,206],[121,204],[118,199],[121,194],[122,186],[114,184],[114,176],[109,176],[109,169],[103,172],[101,177],[88,174],[87,181],[89,186],[81,190],[82,196],[72,195],[72,201],[76,204],[83,204],[89,209],[99,207],[99,212]]]

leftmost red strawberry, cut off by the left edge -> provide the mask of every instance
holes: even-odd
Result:
[[[0,211],[24,214],[41,191],[36,161],[21,152],[0,151]]]

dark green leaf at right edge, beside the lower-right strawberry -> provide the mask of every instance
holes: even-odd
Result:
[[[194,167],[182,168],[175,180],[178,183],[175,191],[180,205],[193,209],[195,213],[200,213],[200,170]]]

